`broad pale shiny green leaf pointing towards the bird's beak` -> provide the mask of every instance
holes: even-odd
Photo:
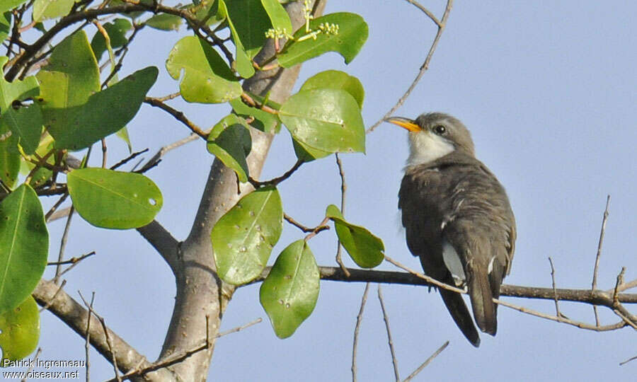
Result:
[[[365,152],[365,127],[350,93],[339,89],[299,91],[288,98],[279,117],[292,137],[330,153]]]

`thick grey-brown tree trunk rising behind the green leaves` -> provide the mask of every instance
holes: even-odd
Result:
[[[324,6],[319,4],[317,14]],[[305,22],[303,4],[295,1],[286,5],[294,28]],[[268,42],[256,57],[256,62],[274,54],[274,45]],[[300,65],[290,69],[273,69],[258,72],[256,76],[243,84],[246,91],[265,94],[270,91],[270,98],[282,102],[289,96],[292,86],[297,81]],[[248,156],[249,173],[258,179],[268,155],[272,134],[265,134],[251,129],[252,151]],[[241,185],[241,193],[237,193],[237,180],[233,170],[215,159],[197,211],[197,216],[188,238],[180,243],[176,258],[172,263],[177,283],[177,296],[171,325],[163,343],[160,359],[171,354],[181,353],[205,343],[206,328],[210,341],[214,345],[214,337],[219,332],[223,313],[229,303],[234,287],[222,282],[217,276],[210,231],[219,218],[228,211],[253,187],[249,183]],[[207,321],[207,322],[206,322]],[[197,352],[184,361],[171,366],[178,381],[205,381],[214,347]]]

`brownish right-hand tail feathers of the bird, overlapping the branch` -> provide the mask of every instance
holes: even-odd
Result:
[[[500,291],[501,278],[489,277],[486,265],[474,263],[472,266],[474,269],[469,272],[467,280],[471,308],[474,310],[478,328],[490,335],[495,335],[498,331],[498,319],[493,302],[493,291]]]

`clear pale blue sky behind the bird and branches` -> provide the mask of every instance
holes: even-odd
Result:
[[[444,1],[425,6],[442,16]],[[336,54],[304,64],[302,81],[339,69],[365,86],[367,126],[394,105],[411,83],[435,35],[431,21],[406,1],[331,1],[326,13],[360,13],[369,40],[349,65]],[[606,196],[610,216],[599,269],[600,289],[614,286],[622,266],[637,277],[637,29],[632,1],[457,1],[423,80],[397,115],[442,111],[471,130],[476,155],[505,185],[517,219],[512,272],[505,283],[550,287],[549,256],[558,287],[590,287]],[[123,74],[144,66],[160,68],[151,96],[178,90],[163,63],[185,32],[143,30],[125,60]],[[225,105],[175,102],[200,126],[223,117]],[[142,106],[130,124],[134,149],[151,152],[188,131],[161,110]],[[112,163],[125,146],[109,139]],[[367,136],[367,154],[343,155],[348,183],[345,216],[384,240],[386,253],[418,269],[404,242],[397,193],[407,156],[406,132],[381,125]],[[98,158],[95,158],[96,161]],[[197,141],[169,153],[149,175],[161,187],[164,206],[157,219],[176,238],[190,230],[212,156]],[[279,134],[263,178],[294,163],[289,135]],[[306,225],[318,224],[328,204],[340,202],[340,178],[333,157],[309,163],[280,187],[285,212]],[[52,202],[52,201],[47,201]],[[51,258],[64,221],[50,224]],[[285,226],[277,254],[302,234]],[[333,265],[335,235],[310,241],[320,265]],[[175,287],[161,257],[135,231],[107,231],[74,216],[67,256],[96,250],[67,277],[67,292],[90,296],[96,311],[139,352],[154,359],[168,326]],[[274,258],[274,256],[272,256]],[[348,261],[348,265],[352,265]],[[394,270],[391,265],[381,269]],[[49,271],[50,272],[50,271]],[[210,378],[215,381],[341,381],[350,378],[352,337],[364,284],[322,282],[312,316],[291,338],[275,337],[258,303],[258,286],[236,292],[222,330],[262,317],[263,323],[217,341]],[[423,287],[384,286],[401,377],[443,342],[449,347],[416,381],[510,381],[630,379],[637,361],[629,328],[597,333],[500,308],[498,335],[482,335],[474,349],[449,317],[437,293]],[[553,314],[553,301],[506,301]],[[629,308],[631,308],[629,306]],[[594,323],[592,308],[561,303],[569,318]],[[633,308],[634,311],[634,308]],[[600,309],[604,323],[614,314]],[[42,314],[43,359],[84,359],[84,340],[50,313]],[[110,364],[96,352],[91,376],[110,378]],[[386,332],[373,286],[360,331],[360,381],[394,378]]]

